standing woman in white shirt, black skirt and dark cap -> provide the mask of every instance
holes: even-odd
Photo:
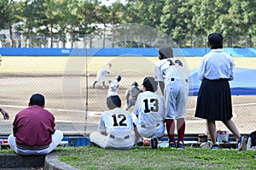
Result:
[[[219,148],[216,142],[215,121],[221,121],[238,139],[238,150],[242,149],[245,139],[238,132],[232,118],[230,82],[234,79],[234,60],[224,52],[223,37],[219,33],[208,36],[207,45],[211,51],[201,59],[198,77],[202,81],[198,92],[195,117],[207,120],[212,139],[212,150]]]

